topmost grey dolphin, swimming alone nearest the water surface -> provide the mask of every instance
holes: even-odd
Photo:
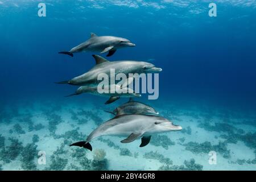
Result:
[[[90,34],[90,39],[79,44],[68,52],[59,52],[73,57],[76,52],[109,52],[107,56],[112,56],[119,48],[134,47],[135,44],[125,38],[118,38],[116,36],[97,36],[94,33]]]

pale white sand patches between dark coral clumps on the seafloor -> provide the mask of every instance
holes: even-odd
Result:
[[[114,105],[112,106],[114,107]],[[28,126],[26,123],[19,123],[21,126],[23,126],[23,130],[26,131],[26,134],[16,134],[15,132],[13,134],[9,133],[10,129],[13,129],[13,125],[15,123],[18,123],[17,118],[14,118],[12,122],[10,123],[0,123],[0,133],[2,136],[6,137],[6,145],[9,145],[9,140],[7,140],[8,137],[18,137],[20,142],[23,142],[23,146],[25,146],[27,143],[32,142],[32,136],[34,134],[39,135],[39,142],[36,143],[38,145],[38,150],[46,151],[47,156],[47,165],[37,165],[38,169],[44,169],[45,167],[49,166],[50,163],[50,156],[53,154],[53,151],[57,149],[58,146],[60,146],[61,143],[63,143],[64,139],[54,139],[48,130],[48,121],[42,115],[42,108],[47,108],[45,105],[40,105],[39,103],[34,104],[33,109],[30,107],[28,108],[22,108],[22,113],[26,113],[27,111],[30,111],[34,117],[32,117],[32,121],[34,124],[42,123],[45,127],[42,130],[39,131],[31,131],[28,132]],[[96,111],[96,108],[93,104],[84,105],[82,109],[84,110],[90,110],[93,108],[93,111]],[[93,121],[88,121],[84,125],[78,125],[77,121],[72,121],[71,114],[69,113],[69,109],[73,109],[73,111],[79,111],[81,107],[76,107],[76,105],[65,105],[61,111],[56,111],[57,114],[61,115],[61,118],[63,119],[63,122],[57,125],[56,135],[64,134],[66,131],[70,131],[73,129],[76,129],[79,127],[79,133],[88,135],[93,129],[96,128],[96,125]],[[114,108],[113,108],[114,109]],[[184,143],[188,142],[199,142],[203,143],[205,141],[209,141],[212,144],[218,144],[219,141],[224,141],[224,139],[220,138],[219,136],[223,133],[218,132],[210,132],[206,131],[197,125],[199,124],[199,121],[203,121],[203,116],[201,115],[201,112],[197,112],[197,115],[199,115],[199,119],[195,119],[190,115],[186,115],[188,111],[181,110],[179,111],[179,114],[172,115],[172,117],[179,118],[179,121],[173,121],[176,125],[181,125],[184,129],[188,126],[191,127],[192,134],[185,134],[181,133],[181,131],[177,132],[170,132],[166,133],[172,141],[174,141],[176,144],[174,146],[169,146],[168,150],[164,149],[161,146],[153,146],[152,144],[148,144],[148,146],[140,148],[140,140],[136,140],[135,142],[128,143],[128,144],[122,144],[120,143],[120,140],[122,138],[119,137],[104,137],[104,139],[109,138],[112,140],[115,144],[118,144],[121,148],[127,148],[130,150],[132,154],[134,152],[138,152],[138,157],[134,158],[133,156],[121,156],[119,155],[120,150],[116,150],[113,147],[109,147],[106,143],[101,142],[100,140],[93,140],[91,142],[93,146],[93,150],[96,148],[102,148],[106,152],[106,159],[108,159],[109,162],[109,169],[110,170],[157,170],[161,164],[158,160],[155,159],[145,159],[143,158],[143,155],[146,152],[150,151],[157,151],[159,154],[164,155],[165,158],[170,158],[173,161],[173,165],[182,165],[184,163],[184,160],[190,160],[195,159],[197,164],[203,165],[204,170],[256,170],[255,164],[247,164],[244,163],[243,165],[234,163],[237,161],[237,159],[251,159],[253,160],[255,158],[254,151],[247,147],[243,142],[239,141],[237,144],[228,144],[228,149],[230,150],[230,159],[223,158],[220,154],[217,154],[217,164],[216,165],[210,165],[208,163],[209,156],[208,154],[193,154],[190,151],[185,150],[185,146],[181,144],[179,141],[179,138],[185,138]],[[217,113],[217,112],[216,112]],[[104,118],[104,121],[107,121],[110,119],[111,115],[108,113],[105,113],[104,111],[98,111],[98,115],[100,115],[101,118]],[[80,117],[80,116],[79,116]],[[80,117],[83,118],[84,116]],[[236,118],[234,118],[235,120]],[[223,119],[218,118],[214,116],[209,122],[221,122]],[[250,125],[242,125],[241,123],[237,123],[235,127],[241,128],[245,130],[246,132],[255,132],[256,129],[253,126]],[[215,137],[218,137],[217,139]],[[76,141],[74,141],[76,142]],[[67,150],[67,154],[61,154],[61,158],[68,159],[68,165],[75,164],[75,166],[80,166],[79,161],[76,159],[73,159],[71,154],[73,152],[73,148],[69,146],[65,146],[64,150]],[[93,152],[86,152],[86,157],[89,159],[93,159]],[[4,170],[21,170],[20,167],[21,162],[20,156],[16,158],[16,160],[12,161],[9,164],[3,164],[2,161],[0,161],[0,164],[3,164],[2,168]],[[35,159],[36,162],[36,159]],[[67,169],[66,167],[66,169]]]

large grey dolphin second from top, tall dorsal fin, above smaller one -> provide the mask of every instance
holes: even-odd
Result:
[[[70,84],[79,86],[98,85],[101,80],[97,80],[100,73],[106,73],[110,78],[110,69],[114,69],[115,75],[125,73],[128,77],[129,73],[159,73],[161,68],[156,68],[154,64],[143,61],[108,61],[101,56],[92,55],[96,61],[96,65],[83,75],[72,78],[69,81],[56,82],[56,84]]]

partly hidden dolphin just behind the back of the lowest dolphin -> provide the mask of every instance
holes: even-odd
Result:
[[[106,111],[106,110],[105,110]],[[159,113],[151,106],[143,104],[142,102],[134,101],[133,98],[130,97],[130,100],[121,106],[118,106],[113,111],[106,111],[108,113],[114,115],[123,115],[123,114],[146,114],[158,115]]]

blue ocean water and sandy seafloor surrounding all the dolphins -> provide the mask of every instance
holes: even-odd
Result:
[[[0,169],[256,169],[256,1],[214,1],[216,17],[211,1],[42,1],[46,17],[40,2],[0,0]],[[153,135],[145,147],[109,136],[90,142],[92,152],[69,147],[113,118],[104,110],[128,101],[64,97],[77,86],[54,84],[95,65],[99,52],[58,54],[90,32],[136,44],[106,59],[163,69],[159,98],[135,100],[183,130]]]

